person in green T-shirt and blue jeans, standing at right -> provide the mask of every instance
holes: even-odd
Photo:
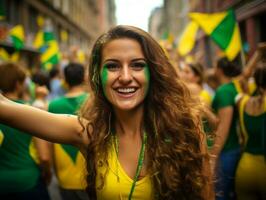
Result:
[[[221,86],[216,90],[212,108],[220,122],[211,148],[213,170],[216,170],[216,199],[235,199],[234,176],[240,158],[240,145],[237,135],[237,110],[234,99],[237,89],[233,77],[241,74],[242,68],[227,58],[218,60],[216,75]]]

